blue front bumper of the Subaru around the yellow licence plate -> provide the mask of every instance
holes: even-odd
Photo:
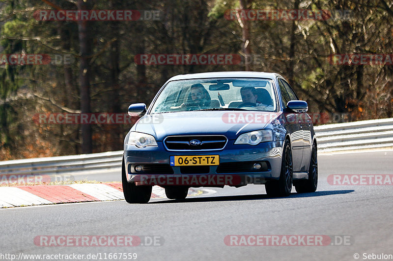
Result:
[[[268,180],[277,180],[281,172],[281,157],[283,141],[261,142],[258,145],[233,144],[228,141],[222,150],[210,151],[168,151],[163,142],[157,142],[156,147],[138,148],[135,145],[124,144],[124,162],[127,180],[136,185],[183,185],[190,187],[224,187],[224,185],[241,187],[247,184],[265,184]],[[200,156],[219,155],[220,167],[203,167],[202,173],[185,172],[181,166],[170,166],[170,156]],[[261,163],[259,170],[247,169],[242,171],[241,166]],[[245,163],[248,163],[245,164]],[[162,166],[158,172],[137,172],[135,166]],[[233,170],[230,165],[234,164]],[[222,166],[226,166],[223,170]],[[228,167],[229,166],[229,167]],[[195,166],[192,166],[198,170]],[[168,171],[167,171],[168,170]],[[224,172],[223,172],[224,171]],[[154,173],[155,172],[155,173]]]

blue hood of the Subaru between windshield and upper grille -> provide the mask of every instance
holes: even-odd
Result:
[[[256,111],[197,111],[145,115],[133,131],[155,136],[163,141],[171,135],[225,135],[235,140],[241,133],[263,129],[279,113]]]

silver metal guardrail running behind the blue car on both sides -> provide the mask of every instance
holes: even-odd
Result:
[[[318,151],[393,147],[393,118],[373,119],[314,127]],[[61,174],[78,171],[114,170],[121,167],[123,151],[35,158],[0,162],[6,175]]]

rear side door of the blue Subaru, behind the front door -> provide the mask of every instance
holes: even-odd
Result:
[[[298,96],[295,94],[289,84],[283,79],[282,82],[291,100],[298,100]],[[299,124],[303,132],[303,157],[300,171],[307,171],[309,167],[309,160],[311,157],[311,118],[307,113],[301,113],[298,114],[298,116],[298,122],[300,120]]]

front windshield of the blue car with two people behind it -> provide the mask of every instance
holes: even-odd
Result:
[[[169,82],[151,113],[201,110],[277,109],[273,82],[260,78],[211,78]]]

